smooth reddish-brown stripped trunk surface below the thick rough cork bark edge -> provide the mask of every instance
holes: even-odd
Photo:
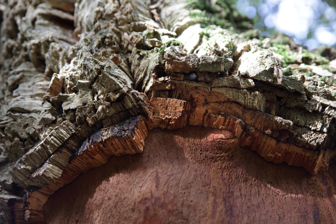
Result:
[[[311,176],[266,162],[229,131],[153,129],[143,154],[112,157],[53,194],[49,224],[335,223],[336,165]]]

